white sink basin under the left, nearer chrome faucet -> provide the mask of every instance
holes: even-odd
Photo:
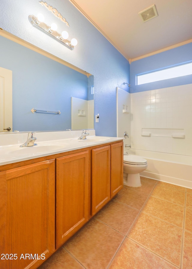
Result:
[[[6,148],[5,154],[9,155],[9,157],[36,155],[38,153],[54,152],[59,149],[63,149],[66,146],[68,146],[68,143],[62,143],[62,144],[40,143],[37,146],[29,146],[29,147],[19,147],[19,145],[10,146]]]

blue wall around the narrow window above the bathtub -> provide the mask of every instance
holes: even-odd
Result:
[[[171,67],[187,61],[192,61],[192,43],[132,62],[130,66],[130,92],[136,93],[192,83],[192,75],[186,75],[179,78],[170,78],[143,85],[135,85],[137,74],[164,67]]]

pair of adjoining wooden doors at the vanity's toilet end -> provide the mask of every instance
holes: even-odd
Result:
[[[91,171],[93,216],[123,188],[123,142],[92,149]]]

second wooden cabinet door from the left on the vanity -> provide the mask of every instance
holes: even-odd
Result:
[[[89,216],[88,151],[56,159],[56,248]]]

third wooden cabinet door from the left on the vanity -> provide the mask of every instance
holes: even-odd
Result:
[[[92,215],[110,200],[110,146],[93,149],[92,167]]]

